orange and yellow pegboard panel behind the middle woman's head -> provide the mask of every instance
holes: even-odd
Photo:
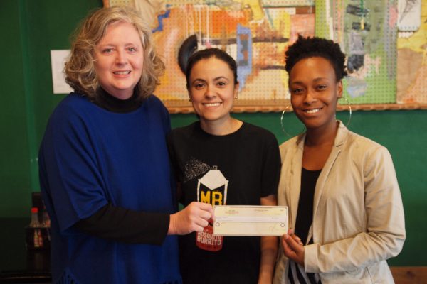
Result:
[[[315,7],[307,6],[314,1],[183,3],[168,1],[153,33],[167,67],[156,94],[169,110],[191,109],[178,60],[178,50],[187,45],[221,48],[236,60],[240,89],[235,111],[265,111],[288,103],[284,53],[297,34],[315,35]]]

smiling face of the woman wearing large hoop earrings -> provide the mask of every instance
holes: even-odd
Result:
[[[335,127],[337,100],[342,96],[342,81],[322,57],[297,62],[289,76],[290,102],[307,129]]]

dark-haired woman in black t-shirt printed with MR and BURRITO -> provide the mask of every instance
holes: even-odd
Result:
[[[236,62],[222,50],[201,50],[189,58],[186,80],[199,121],[168,137],[181,203],[276,205],[278,141],[230,114]],[[214,236],[210,224],[179,239],[181,275],[186,284],[271,283],[277,247],[275,236]]]

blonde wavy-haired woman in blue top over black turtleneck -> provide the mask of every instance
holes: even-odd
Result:
[[[39,153],[53,283],[181,283],[173,235],[201,231],[213,211],[193,202],[176,212],[169,114],[152,94],[163,70],[132,9],[83,22],[65,64],[75,92],[53,111]]]

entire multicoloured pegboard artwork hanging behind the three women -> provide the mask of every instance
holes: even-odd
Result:
[[[103,1],[105,6],[146,3]],[[139,11],[151,19],[167,66],[155,93],[171,112],[192,111],[178,50],[195,35],[190,45],[221,48],[238,62],[241,89],[233,111],[280,111],[290,98],[284,52],[302,34],[330,38],[348,55],[344,95],[353,109],[426,109],[427,1],[422,1],[421,28],[399,38],[399,53],[397,1],[150,1],[150,9]]]

